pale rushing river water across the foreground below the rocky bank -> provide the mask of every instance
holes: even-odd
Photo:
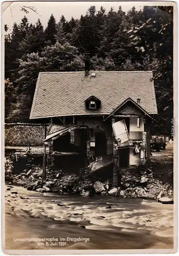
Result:
[[[173,205],[7,188],[5,249],[173,248]],[[18,241],[27,238],[58,242]],[[75,241],[79,238],[88,241]]]

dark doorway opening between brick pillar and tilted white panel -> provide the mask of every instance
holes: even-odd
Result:
[[[107,139],[105,132],[95,132],[95,155],[107,155]]]

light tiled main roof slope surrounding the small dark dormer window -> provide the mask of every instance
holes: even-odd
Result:
[[[93,71],[94,72],[94,71]],[[30,119],[74,115],[109,115],[125,99],[132,98],[149,114],[157,114],[152,71],[41,72]],[[91,95],[101,101],[98,110],[86,109]]]

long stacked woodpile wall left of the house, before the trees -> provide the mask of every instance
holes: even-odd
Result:
[[[48,132],[49,126],[47,126]],[[6,123],[5,146],[43,146],[45,124]]]

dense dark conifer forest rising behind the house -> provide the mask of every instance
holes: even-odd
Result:
[[[9,33],[5,25],[5,122],[29,120],[39,72],[152,70],[158,116],[152,134],[170,135],[173,117],[173,7],[145,6],[109,12],[91,6],[70,20],[52,14],[46,28],[40,19],[23,17]],[[52,84],[53,86],[53,84]],[[140,86],[140,84],[139,84]]]

